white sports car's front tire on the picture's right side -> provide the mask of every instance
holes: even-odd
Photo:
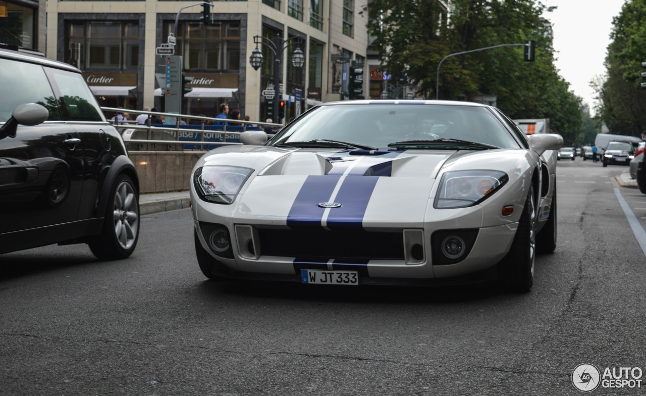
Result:
[[[526,293],[534,285],[536,258],[536,206],[530,188],[512,247],[498,265],[498,281],[508,291]]]

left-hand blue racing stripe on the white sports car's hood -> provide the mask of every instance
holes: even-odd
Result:
[[[311,175],[303,183],[287,214],[287,226],[320,227],[324,208],[319,203],[328,202],[340,176]]]

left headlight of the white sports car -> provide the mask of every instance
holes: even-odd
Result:
[[[230,204],[251,173],[253,169],[240,166],[203,166],[195,171],[193,184],[203,201]]]

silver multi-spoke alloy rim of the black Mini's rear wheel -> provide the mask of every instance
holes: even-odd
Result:
[[[122,181],[114,194],[114,235],[124,249],[132,247],[139,232],[139,206],[134,188]]]

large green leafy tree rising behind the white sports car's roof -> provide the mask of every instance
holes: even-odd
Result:
[[[417,84],[435,98],[437,66],[448,54],[500,44],[536,41],[536,61],[522,47],[501,47],[453,56],[440,71],[441,99],[472,100],[495,94],[512,118],[550,118],[568,144],[582,138],[581,99],[554,66],[553,10],[537,0],[453,0],[450,17],[436,0],[372,0],[368,31],[380,61],[395,80]]]

